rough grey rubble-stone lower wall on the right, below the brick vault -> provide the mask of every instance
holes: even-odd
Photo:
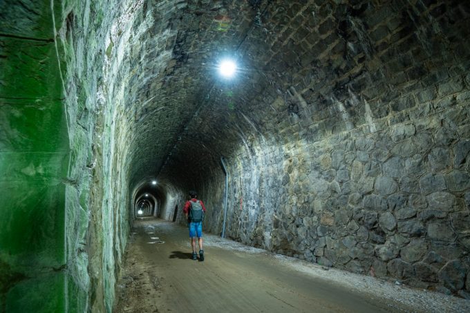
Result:
[[[464,290],[470,141],[460,103],[373,133],[291,142],[281,155],[261,144],[234,155],[227,234],[321,265]]]

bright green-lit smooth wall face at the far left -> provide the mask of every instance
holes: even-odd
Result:
[[[51,1],[0,2],[0,312],[66,310],[60,12]]]

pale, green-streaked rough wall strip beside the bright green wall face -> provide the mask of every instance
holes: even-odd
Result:
[[[133,93],[123,79],[131,60],[129,37],[142,1],[77,1],[66,9],[60,32],[66,73],[66,108],[73,160],[66,196],[69,298],[111,312],[124,247],[133,218],[130,197],[129,119],[124,107]],[[109,7],[114,10],[109,10]]]

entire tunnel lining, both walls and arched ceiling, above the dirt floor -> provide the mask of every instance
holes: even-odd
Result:
[[[111,312],[189,189],[213,234],[470,298],[469,69],[464,0],[0,1],[0,312]]]

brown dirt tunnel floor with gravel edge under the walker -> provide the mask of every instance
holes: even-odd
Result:
[[[453,307],[435,307],[426,299],[426,292],[421,295],[414,290],[409,291],[411,302],[400,301],[387,290],[396,292],[393,289],[398,287],[375,278],[326,270],[217,236],[204,236],[205,260],[191,260],[187,228],[163,220],[136,220],[118,282],[115,312],[466,310],[460,302],[455,306],[453,297],[440,301],[450,301]],[[424,303],[431,304],[431,309]]]

